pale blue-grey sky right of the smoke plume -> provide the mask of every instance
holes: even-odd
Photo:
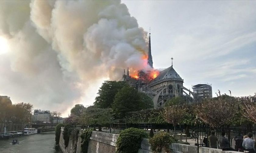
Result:
[[[256,92],[256,1],[122,2],[139,26],[151,27],[155,68],[173,57],[187,88],[208,82],[213,95]]]

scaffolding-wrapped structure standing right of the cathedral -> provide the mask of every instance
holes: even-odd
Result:
[[[192,86],[194,92],[194,99],[196,101],[201,101],[205,98],[212,98],[212,85],[205,84],[197,84]]]

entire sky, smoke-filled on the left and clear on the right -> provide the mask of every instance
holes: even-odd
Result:
[[[68,116],[92,105],[104,80],[143,66],[149,27],[154,68],[173,57],[188,89],[254,95],[256,1],[121,3],[1,1],[0,95]]]

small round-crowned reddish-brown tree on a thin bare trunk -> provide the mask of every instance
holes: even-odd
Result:
[[[186,107],[183,105],[169,105],[164,107],[163,117],[166,122],[173,124],[174,134],[175,128],[178,123],[184,118],[186,114]]]

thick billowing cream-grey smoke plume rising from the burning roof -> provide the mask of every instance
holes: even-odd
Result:
[[[11,65],[7,76],[20,75],[16,87],[34,94],[30,103],[53,103],[62,112],[98,79],[148,68],[146,35],[120,1],[0,2],[0,37],[10,47],[10,60],[1,63]]]

